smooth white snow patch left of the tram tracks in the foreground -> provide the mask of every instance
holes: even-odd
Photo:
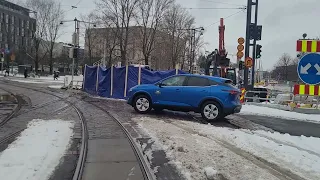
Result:
[[[1,179],[49,179],[69,147],[71,128],[72,122],[62,120],[31,121],[0,154]]]

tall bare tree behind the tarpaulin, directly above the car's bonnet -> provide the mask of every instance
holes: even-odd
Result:
[[[136,20],[141,32],[142,53],[145,65],[154,50],[154,40],[165,10],[173,0],[140,0]]]

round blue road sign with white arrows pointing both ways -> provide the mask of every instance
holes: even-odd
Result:
[[[303,56],[297,67],[298,76],[306,84],[320,84],[320,55],[311,53]]]

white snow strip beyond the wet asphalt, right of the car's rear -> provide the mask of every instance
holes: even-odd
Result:
[[[269,117],[278,117],[288,120],[311,121],[320,123],[320,115],[317,114],[301,114],[297,112],[290,112],[248,104],[242,106],[240,114],[261,115]]]

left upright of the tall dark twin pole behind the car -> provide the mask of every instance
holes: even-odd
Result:
[[[247,4],[247,26],[246,26],[246,43],[245,43],[245,52],[244,59],[249,57],[250,53],[250,23],[251,23],[251,12],[252,12],[252,0],[248,0]],[[248,89],[248,76],[249,69],[244,67],[244,88]]]

